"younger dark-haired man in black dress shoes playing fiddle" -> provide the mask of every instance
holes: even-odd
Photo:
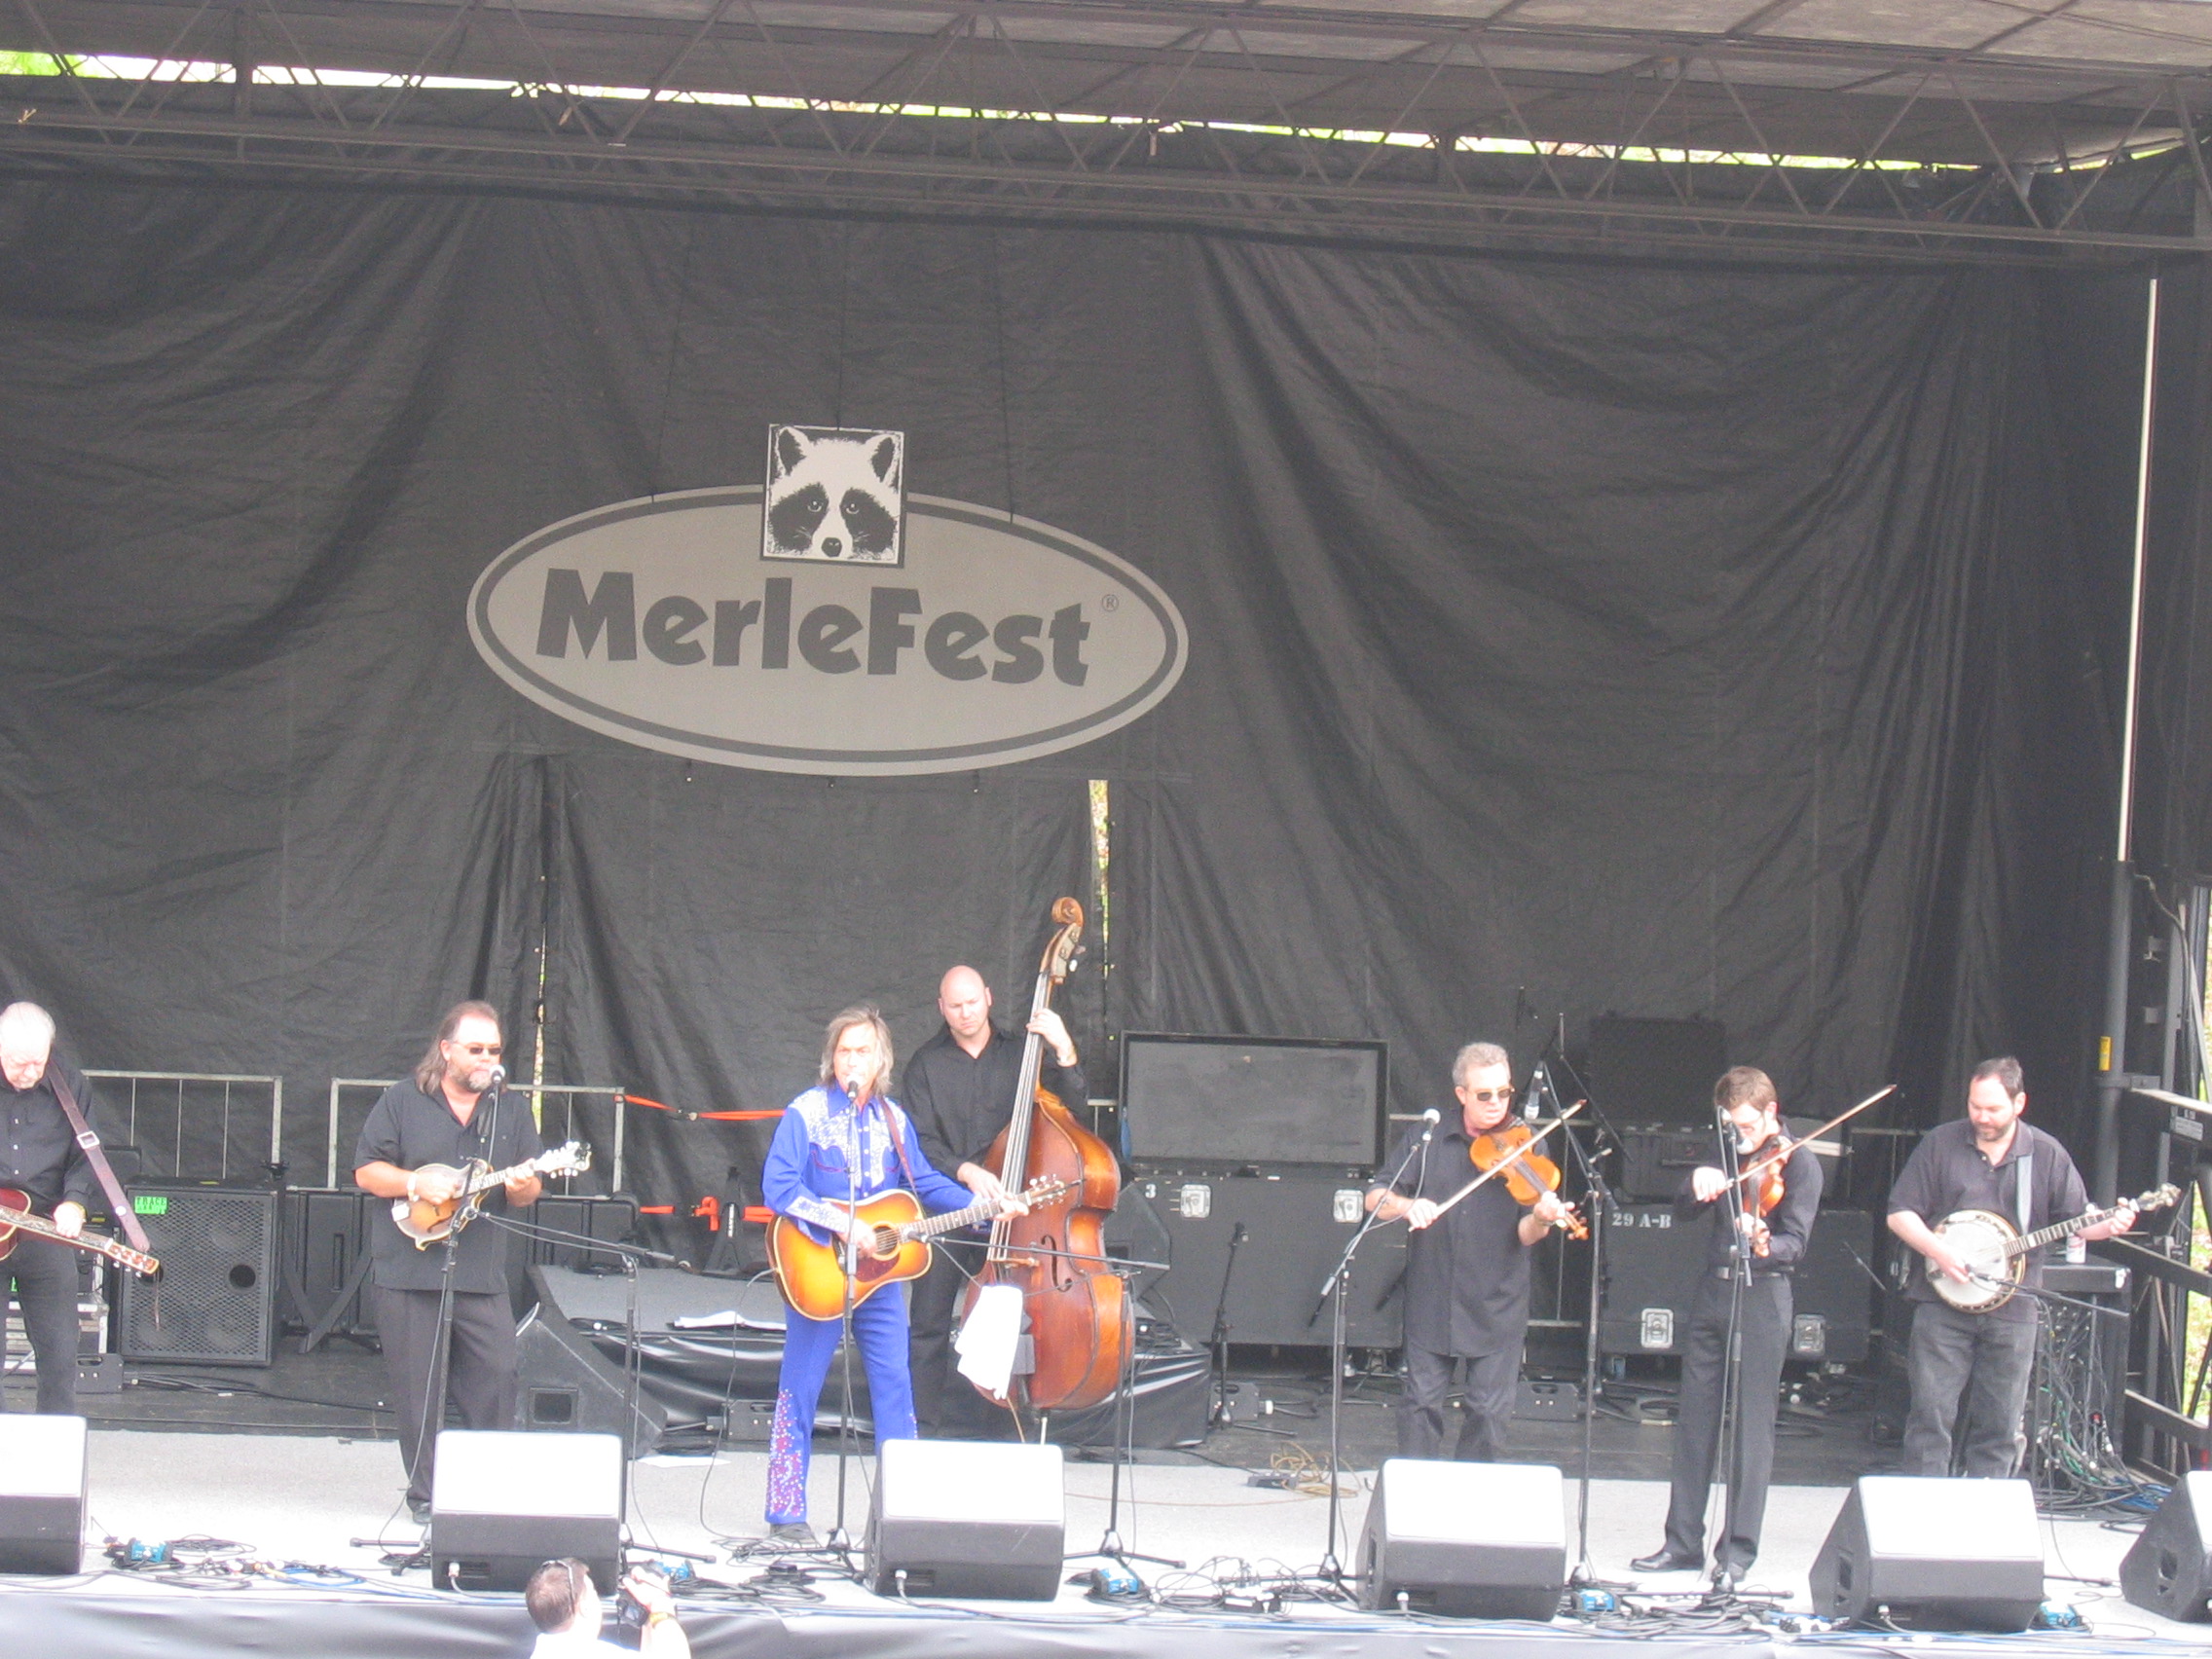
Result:
[[[1674,1573],[1705,1566],[1705,1495],[1721,1444],[1721,1398],[1728,1385],[1730,1310],[1741,1334],[1736,1367],[1736,1458],[1730,1471],[1732,1504],[1725,1537],[1714,1546],[1723,1588],[1743,1582],[1759,1557],[1759,1528],[1774,1475],[1774,1413],[1781,1407],[1783,1356],[1790,1349],[1790,1274],[1805,1259],[1812,1221],[1820,1208],[1820,1161],[1809,1146],[1783,1139],[1774,1079],[1756,1066],[1721,1073],[1712,1104],[1736,1141],[1734,1186],[1714,1164],[1690,1170],[1674,1194],[1674,1225],[1705,1228],[1705,1263],[1690,1298],[1690,1334],[1681,1354],[1681,1396],[1674,1413],[1674,1491],[1666,1511],[1666,1544],[1632,1566],[1637,1573]],[[1783,1155],[1770,1177],[1750,1170]],[[1772,1199],[1772,1208],[1765,1201]],[[1739,1248],[1741,1234],[1741,1248]],[[1750,1265],[1741,1303],[1736,1267]]]

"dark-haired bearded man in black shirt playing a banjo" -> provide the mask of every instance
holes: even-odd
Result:
[[[1962,1398],[1960,1473],[2002,1480],[2020,1467],[2037,1298],[2004,1294],[2008,1270],[1978,1274],[1938,1228],[1958,1210],[1984,1210],[2017,1232],[2033,1232],[2088,1210],[2073,1157],[2051,1135],[2020,1121],[2026,1108],[2020,1062],[2011,1055],[1984,1060],[1966,1086],[1966,1117],[1931,1128],[1889,1190],[1889,1230],[1933,1270],[1911,1274],[1905,1292],[1916,1303],[1907,1354],[1913,1405],[1900,1473],[1951,1473],[1951,1427]],[[2121,1203],[2077,1237],[2110,1239],[2132,1225],[2135,1206]],[[2042,1283],[2037,1254],[2028,1252],[2020,1279],[2026,1292]],[[1933,1274],[1942,1276],[1942,1287]],[[1986,1305],[1993,1296],[2002,1301],[1986,1312],[1953,1305]]]

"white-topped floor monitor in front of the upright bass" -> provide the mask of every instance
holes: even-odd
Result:
[[[876,1595],[1051,1601],[1066,1540],[1060,1447],[885,1440],[876,1451]]]

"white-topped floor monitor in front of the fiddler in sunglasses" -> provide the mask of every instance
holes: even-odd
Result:
[[[1548,1624],[1566,1588],[1551,1464],[1389,1458],[1360,1528],[1360,1606]]]

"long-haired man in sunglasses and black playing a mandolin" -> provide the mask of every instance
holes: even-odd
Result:
[[[460,1194],[462,1168],[482,1161],[493,1170],[535,1159],[544,1144],[526,1099],[502,1099],[500,1015],[489,1002],[458,1002],[438,1022],[438,1035],[411,1077],[392,1084],[369,1108],[354,1148],[354,1183],[378,1199],[442,1206]],[[487,1095],[491,1104],[487,1106]],[[511,1175],[487,1192],[487,1208],[538,1201],[531,1172]],[[369,1221],[376,1259],[376,1336],[392,1376],[392,1409],[400,1420],[407,1460],[407,1509],[429,1515],[431,1462],[438,1451],[436,1409],[440,1290],[447,1245],[418,1250],[383,1212]],[[507,1234],[500,1228],[462,1228],[453,1245],[453,1327],[447,1398],[469,1429],[515,1427],[515,1310],[507,1301]]]

